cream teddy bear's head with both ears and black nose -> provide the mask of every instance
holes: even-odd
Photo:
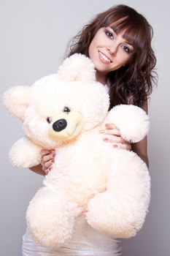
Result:
[[[32,86],[8,89],[4,103],[23,122],[28,138],[50,149],[100,124],[107,116],[109,95],[96,81],[92,61],[76,53],[63,61],[56,74]]]

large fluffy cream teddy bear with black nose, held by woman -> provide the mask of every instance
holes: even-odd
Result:
[[[136,143],[150,126],[144,110],[134,105],[109,110],[108,91],[96,81],[92,61],[80,53],[32,86],[9,88],[4,103],[26,133],[9,151],[13,165],[39,165],[43,148],[57,152],[26,212],[34,240],[43,246],[63,246],[81,214],[98,232],[116,238],[135,236],[150,203],[147,165],[133,151],[104,142],[99,131],[113,123],[122,138]]]

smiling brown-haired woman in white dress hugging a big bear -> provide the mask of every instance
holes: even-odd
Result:
[[[125,5],[102,12],[72,40],[70,52],[88,56],[96,67],[96,80],[109,91],[110,108],[117,104],[138,105],[147,111],[147,99],[155,82],[155,55],[151,47],[152,27],[136,10]],[[97,97],[97,96],[96,96]],[[130,145],[120,137],[114,124],[102,130],[104,141],[115,148],[133,150],[148,165],[147,138]],[[36,173],[47,174],[55,152],[42,151],[42,163],[32,167]],[[120,241],[93,230],[85,217],[77,219],[72,241],[60,249],[42,248],[26,232],[23,256],[35,255],[121,255]]]

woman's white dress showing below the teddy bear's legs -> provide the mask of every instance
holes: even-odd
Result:
[[[28,230],[23,236],[23,256],[121,256],[120,241],[94,230],[78,217],[74,225],[72,240],[58,249],[42,247],[31,238]]]

